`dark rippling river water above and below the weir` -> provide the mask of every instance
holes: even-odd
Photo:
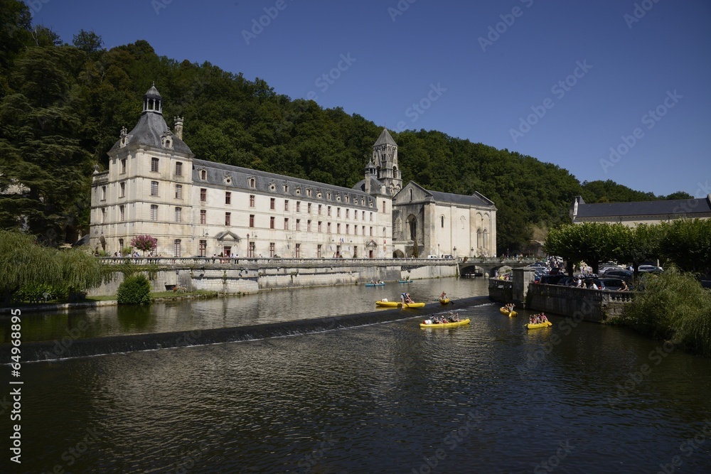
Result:
[[[23,364],[22,464],[4,448],[3,472],[709,472],[710,360],[623,328],[552,315],[552,328],[527,331],[525,314],[458,308],[456,298],[486,294],[483,279],[166,303],[139,322],[117,308],[69,319],[84,318],[91,337],[219,328],[373,311],[400,288],[416,300],[444,289],[471,324],[422,330],[413,312],[343,330]],[[33,318],[35,340],[67,327],[65,314],[28,313],[23,331]]]

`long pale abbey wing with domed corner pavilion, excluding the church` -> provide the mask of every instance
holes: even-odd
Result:
[[[194,158],[171,133],[155,87],[139,123],[92,181],[90,245],[109,254],[137,235],[156,254],[240,257],[390,257],[392,198]]]

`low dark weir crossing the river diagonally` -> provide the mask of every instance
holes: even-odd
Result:
[[[456,301],[457,308],[478,306],[490,303],[488,296],[461,298]],[[277,338],[287,335],[320,333],[327,330],[354,328],[356,326],[387,323],[400,319],[427,316],[429,313],[442,311],[445,307],[438,303],[428,303],[422,309],[390,309],[356,313],[341,316],[328,316],[280,323],[237,326],[232,328],[195,329],[174,333],[154,333],[120,335],[106,338],[73,339],[28,342],[22,344],[23,362],[41,362],[74,357],[182,348],[194,345],[234,343],[245,340]],[[9,344],[0,345],[4,354],[10,354]]]

